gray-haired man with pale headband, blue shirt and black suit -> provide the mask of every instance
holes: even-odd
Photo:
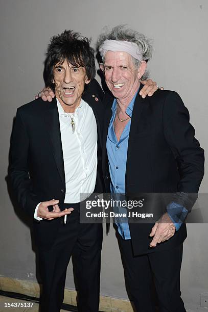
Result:
[[[145,99],[140,95],[152,55],[143,34],[117,26],[99,37],[98,46],[111,91],[104,97],[106,192],[125,193],[127,198],[173,195],[167,205],[160,202],[165,206],[155,223],[115,219],[131,298],[136,311],[155,311],[154,278],[160,312],[186,311],[180,298],[182,243],[187,237],[183,221],[196,200],[191,193],[198,192],[203,177],[204,151],[176,92],[157,90]]]

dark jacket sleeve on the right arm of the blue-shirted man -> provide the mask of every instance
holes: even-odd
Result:
[[[204,174],[204,150],[195,138],[189,112],[176,92],[169,92],[163,110],[164,135],[178,164],[180,180],[173,202],[189,212],[197,197]]]

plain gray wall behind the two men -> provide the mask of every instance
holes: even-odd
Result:
[[[151,76],[160,86],[176,90],[191,114],[196,136],[207,151],[206,0],[1,0],[1,269],[0,274],[36,280],[30,229],[14,213],[5,177],[9,140],[16,108],[34,98],[43,86],[44,52],[52,35],[74,29],[96,38],[105,25],[127,23],[154,39]],[[99,79],[99,77],[98,77]],[[99,80],[100,81],[100,80]],[[206,192],[207,172],[200,191]],[[207,224],[188,225],[184,243],[181,288],[189,307],[208,292]],[[72,267],[66,287],[73,288]],[[104,235],[101,293],[127,298],[114,232]]]

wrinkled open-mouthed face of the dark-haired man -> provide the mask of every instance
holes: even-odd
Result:
[[[87,78],[84,67],[75,67],[65,60],[62,64],[54,66],[55,95],[61,105],[71,108],[79,106],[84,84],[90,81]]]

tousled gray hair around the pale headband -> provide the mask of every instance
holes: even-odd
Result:
[[[126,25],[118,25],[115,26],[110,32],[105,30],[98,37],[97,48],[99,49],[105,40],[124,40],[129,42],[134,42],[137,44],[140,51],[142,51],[142,59],[146,62],[151,59],[152,57],[152,43],[151,40],[145,37],[145,35],[133,31],[132,29],[126,28]],[[132,60],[136,67],[140,66],[140,61],[136,60],[132,57]],[[105,54],[102,57],[103,63],[105,63]],[[143,80],[146,80],[149,76],[149,72],[145,71],[144,75],[142,76]]]

